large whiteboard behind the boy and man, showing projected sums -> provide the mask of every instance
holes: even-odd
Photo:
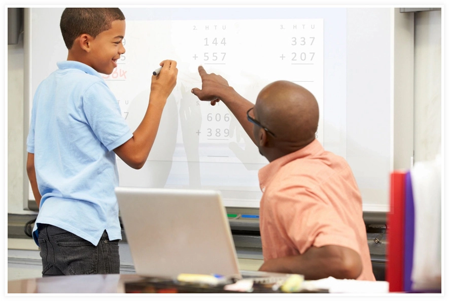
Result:
[[[226,106],[190,92],[201,87],[203,65],[252,102],[276,80],[309,89],[320,107],[318,140],[350,163],[364,210],[388,211],[392,10],[122,8],[126,52],[103,78],[131,130],[145,114],[159,62],[176,60],[179,74],[144,167],[133,170],[117,157],[120,186],[217,189],[227,207],[259,207],[257,173],[268,161]],[[39,83],[66,59],[62,11],[30,9],[29,110]]]

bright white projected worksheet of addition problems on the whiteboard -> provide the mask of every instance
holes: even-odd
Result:
[[[315,95],[322,111],[322,19],[127,21],[126,32],[125,58],[111,75],[103,77],[119,99],[123,116],[131,129],[139,124],[148,105],[148,95],[143,99],[139,95],[143,87],[147,89],[151,72],[163,59],[176,60],[178,84],[169,101],[176,103],[177,110],[167,118],[181,122],[177,130],[162,123],[159,131],[165,132],[167,139],[175,135],[178,146],[195,149],[201,161],[266,162],[224,104],[211,106],[190,93],[193,87],[201,86],[198,65],[208,73],[222,75],[253,103],[268,83],[295,82]],[[142,58],[154,63],[149,65]],[[170,108],[175,106],[165,110]],[[317,137],[322,141],[323,118]],[[187,152],[175,151],[171,158],[169,153],[157,159],[190,160]]]

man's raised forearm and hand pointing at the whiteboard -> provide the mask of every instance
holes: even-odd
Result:
[[[193,88],[192,93],[200,101],[211,102],[213,106],[216,102],[222,101],[254,142],[253,124],[248,121],[246,115],[254,105],[230,87],[221,75],[208,74],[202,66],[198,67],[198,73],[201,77],[201,89]]]

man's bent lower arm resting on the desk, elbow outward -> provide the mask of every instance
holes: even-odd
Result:
[[[301,255],[267,260],[259,271],[301,274],[307,280],[329,276],[337,279],[356,279],[362,273],[362,259],[356,251],[346,247],[310,247]]]

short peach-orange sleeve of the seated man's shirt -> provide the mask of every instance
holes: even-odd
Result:
[[[288,190],[291,191],[288,191]],[[333,207],[307,188],[292,187],[278,195],[274,217],[285,240],[303,254],[310,247],[337,245],[359,252],[354,229]]]

